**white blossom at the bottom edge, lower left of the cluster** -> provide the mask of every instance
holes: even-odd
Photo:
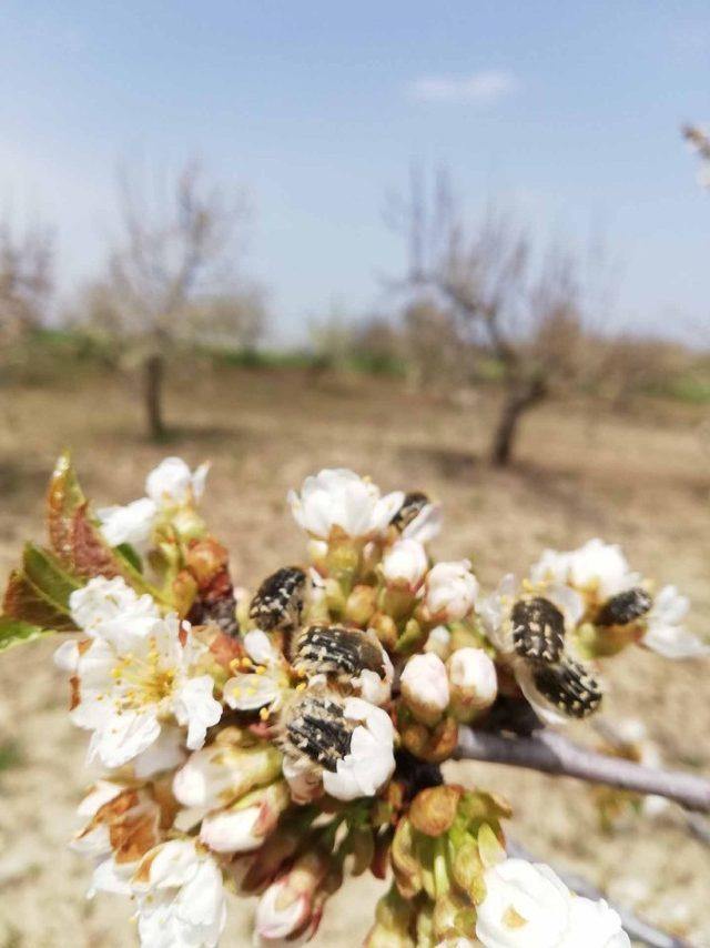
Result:
[[[214,948],[226,920],[222,873],[193,840],[148,853],[131,880],[142,948]]]

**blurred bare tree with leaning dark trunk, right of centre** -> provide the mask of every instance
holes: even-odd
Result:
[[[467,351],[500,366],[505,399],[490,457],[505,465],[523,415],[572,372],[581,337],[576,261],[558,245],[540,255],[528,230],[495,208],[468,225],[445,172],[432,193],[414,172],[392,222],[407,241],[400,285],[415,299],[434,294],[456,317]]]

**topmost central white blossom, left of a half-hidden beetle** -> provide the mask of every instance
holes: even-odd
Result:
[[[353,538],[382,534],[403,500],[400,491],[383,497],[371,481],[342,467],[306,477],[300,493],[288,493],[296,523],[312,537],[325,541],[336,528]]]

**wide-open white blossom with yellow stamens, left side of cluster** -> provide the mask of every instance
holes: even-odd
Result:
[[[184,641],[183,641],[183,636]],[[204,646],[182,629],[176,615],[93,626],[77,665],[78,704],[71,718],[92,730],[89,756],[121,767],[154,744],[171,719],[187,728],[190,749],[202,746],[207,727],[222,716],[209,675],[191,677]]]

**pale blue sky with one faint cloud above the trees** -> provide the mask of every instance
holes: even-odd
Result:
[[[710,198],[679,137],[710,122],[702,2],[3,0],[0,201],[57,224],[63,286],[99,265],[115,168],[197,152],[252,194],[274,330],[383,302],[383,222],[413,160],[540,234],[604,235],[617,319],[710,322]]]

